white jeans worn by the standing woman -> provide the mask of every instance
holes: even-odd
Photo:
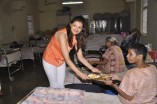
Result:
[[[66,64],[64,63],[61,66],[56,67],[52,64],[47,63],[44,59],[42,60],[42,62],[45,73],[50,83],[50,87],[64,88]]]

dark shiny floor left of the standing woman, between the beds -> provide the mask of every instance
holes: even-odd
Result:
[[[47,77],[42,67],[42,63],[32,60],[24,60],[24,71],[20,70],[13,74],[15,80],[8,79],[5,68],[0,68],[0,78],[3,96],[0,96],[0,104],[16,104],[35,87],[49,86]]]

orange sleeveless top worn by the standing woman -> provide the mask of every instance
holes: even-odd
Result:
[[[60,29],[60,32],[63,32],[65,34],[67,34],[67,30],[66,28]],[[76,44],[76,36],[73,36],[73,47]],[[73,48],[71,48],[67,42],[67,47],[68,47],[68,51],[70,52],[70,50]],[[61,51],[61,47],[60,44],[58,42],[58,40],[55,37],[55,34],[52,36],[50,42],[47,45],[47,48],[44,51],[43,54],[43,59],[49,63],[52,64],[54,66],[60,66],[65,62],[63,53]]]

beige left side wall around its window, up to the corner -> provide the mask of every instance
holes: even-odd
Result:
[[[16,7],[12,7],[12,2],[14,2],[13,0],[0,0],[0,19],[2,27],[2,39],[0,40],[0,44],[25,40],[28,38],[26,21],[27,14],[33,15],[35,20],[35,29],[39,30],[40,28],[40,23],[38,19],[39,16],[37,16],[36,14],[38,11],[37,0],[21,1],[23,1],[25,5],[22,6],[21,9],[17,9]],[[17,7],[18,6],[19,4],[17,4]],[[36,22],[36,20],[38,21]]]

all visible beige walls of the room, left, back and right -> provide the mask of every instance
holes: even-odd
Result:
[[[57,4],[45,6],[43,0],[24,0],[26,7],[23,10],[11,11],[12,0],[0,0],[0,19],[2,38],[0,44],[9,43],[26,39],[27,23],[26,15],[32,14],[34,19],[35,31],[53,29],[57,26],[56,10],[62,9],[61,0]],[[54,0],[56,1],[56,0]],[[94,13],[118,13],[126,5],[124,0],[84,0],[84,5],[70,6],[72,15],[88,14],[89,21],[92,20]],[[140,1],[140,0],[137,0]],[[143,43],[152,43],[153,48],[157,50],[157,0],[148,0],[148,35],[142,37]],[[39,4],[39,5],[38,5]],[[131,11],[131,28],[140,28],[140,2],[130,3]],[[136,6],[136,7],[134,7]],[[80,7],[80,8],[78,8]],[[134,10],[134,9],[136,10]],[[134,12],[136,12],[134,15]]]

